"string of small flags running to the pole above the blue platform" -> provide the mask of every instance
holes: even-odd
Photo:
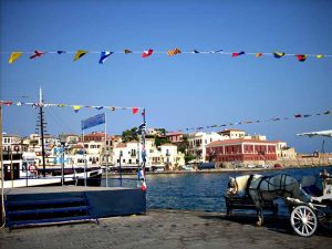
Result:
[[[25,103],[25,102],[12,102],[12,101],[0,101],[0,105],[3,106],[32,106],[33,108],[37,107],[72,107],[75,113],[77,113],[81,108],[94,108],[94,110],[131,110],[133,114],[137,114],[139,110],[142,110],[142,115],[145,115],[144,107],[121,107],[121,106],[91,106],[91,105],[70,105],[70,104],[46,104],[46,103]]]

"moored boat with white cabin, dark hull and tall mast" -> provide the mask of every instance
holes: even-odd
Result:
[[[37,153],[23,152],[23,144],[11,146],[7,155],[2,155],[2,178],[0,180],[3,188],[31,187],[44,185],[80,185],[80,186],[100,186],[102,180],[102,167],[100,165],[89,165],[87,155],[83,152],[81,155],[72,155],[72,158],[80,158],[77,165],[71,159],[71,164],[65,155],[64,142],[58,147],[61,151],[58,162],[52,166],[46,166],[46,153],[44,144],[45,123],[43,116],[43,97],[40,89],[39,107],[39,131],[41,139],[41,166],[37,166]],[[2,129],[2,128],[1,128]],[[1,137],[2,138],[2,137]],[[54,148],[55,149],[55,148]],[[60,158],[60,159],[59,159]],[[58,163],[58,164],[56,164]]]

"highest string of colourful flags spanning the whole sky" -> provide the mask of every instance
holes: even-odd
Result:
[[[238,52],[229,52],[229,51],[224,51],[224,50],[214,50],[214,51],[198,51],[198,50],[193,50],[193,51],[181,51],[178,48],[168,50],[168,51],[155,51],[153,49],[148,49],[146,51],[132,51],[128,49],[125,49],[123,51],[86,51],[86,50],[77,50],[77,51],[64,51],[64,50],[59,50],[59,51],[40,51],[40,50],[35,50],[33,52],[22,52],[22,51],[17,51],[17,52],[1,52],[1,53],[10,53],[10,58],[9,58],[9,64],[14,63],[19,58],[21,58],[23,54],[29,54],[29,59],[33,60],[33,59],[38,59],[41,58],[45,54],[74,54],[74,59],[73,61],[77,61],[81,58],[83,58],[84,55],[86,55],[87,53],[92,53],[92,54],[100,54],[100,60],[98,63],[100,64],[104,64],[104,62],[112,55],[115,53],[118,54],[131,54],[131,53],[138,53],[142,54],[143,59],[146,59],[153,54],[167,54],[168,56],[174,56],[176,54],[221,54],[221,55],[230,55],[232,58],[237,58],[237,56],[241,56],[241,55],[253,55],[256,58],[261,58],[261,56],[273,56],[276,59],[281,59],[283,56],[294,56],[299,62],[304,62],[308,58],[315,58],[315,59],[322,59],[322,58],[332,58],[331,54],[309,54],[309,53],[286,53],[286,52],[280,52],[280,51],[274,51],[274,52],[270,52],[270,53],[262,53],[262,52],[245,52],[245,51],[238,51]]]

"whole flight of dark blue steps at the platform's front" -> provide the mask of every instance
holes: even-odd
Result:
[[[9,229],[95,221],[85,193],[65,198],[49,197],[35,200],[6,199],[6,222]]]

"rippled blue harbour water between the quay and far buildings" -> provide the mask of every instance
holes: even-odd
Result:
[[[323,169],[332,174],[332,166],[261,172],[148,174],[147,208],[226,212],[224,195],[229,176],[288,174],[300,181],[302,176],[314,175],[320,180],[319,174]],[[102,184],[105,185],[105,181]],[[137,181],[133,176],[124,176],[122,184],[124,187],[135,187]],[[120,179],[108,179],[108,186],[120,186]],[[277,203],[279,215],[288,215],[282,200]]]

